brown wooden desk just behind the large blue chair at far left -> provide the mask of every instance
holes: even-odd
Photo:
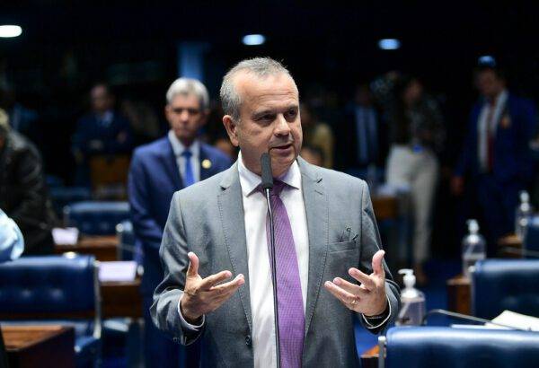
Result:
[[[116,235],[84,236],[76,244],[57,244],[55,253],[74,251],[93,254],[97,260],[118,260],[119,241]]]

